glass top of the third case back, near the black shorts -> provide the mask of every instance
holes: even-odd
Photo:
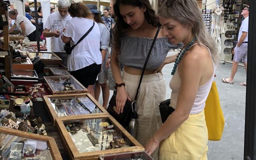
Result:
[[[54,91],[84,90],[71,76],[70,77],[47,77],[46,80]]]

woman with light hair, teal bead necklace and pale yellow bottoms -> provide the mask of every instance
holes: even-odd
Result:
[[[164,36],[172,44],[182,42],[185,48],[176,59],[170,81],[170,107],[175,110],[145,149],[152,154],[160,144],[160,160],[207,160],[204,106],[218,63],[215,42],[206,32],[196,0],[164,0],[160,5]]]

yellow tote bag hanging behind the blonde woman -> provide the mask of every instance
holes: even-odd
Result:
[[[220,106],[216,82],[212,82],[212,88],[206,100],[204,114],[209,140],[220,140],[224,129],[224,116]]]

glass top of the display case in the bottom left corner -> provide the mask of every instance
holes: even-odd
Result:
[[[47,142],[0,134],[0,160],[52,160]]]

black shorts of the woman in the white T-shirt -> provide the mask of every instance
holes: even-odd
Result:
[[[71,71],[70,74],[74,76],[85,88],[89,85],[94,85],[96,78],[101,70],[101,64],[91,64],[80,70]]]

